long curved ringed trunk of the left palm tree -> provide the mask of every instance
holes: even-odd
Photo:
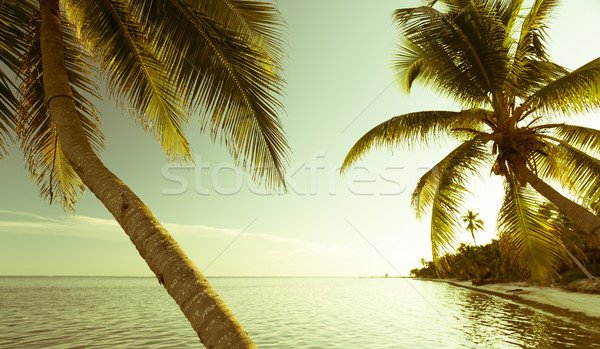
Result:
[[[64,62],[58,0],[40,0],[44,93],[62,151],[129,236],[207,348],[256,348],[198,267],[144,203],[92,150],[75,109]]]

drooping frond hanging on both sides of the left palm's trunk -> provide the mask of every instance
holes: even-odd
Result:
[[[18,113],[17,136],[24,152],[27,169],[40,188],[40,195],[50,203],[60,203],[73,210],[84,186],[60,148],[52,117],[44,95],[39,39],[39,17],[28,24],[27,51],[22,56],[19,91],[22,96]],[[96,109],[88,97],[97,98],[97,86],[90,57],[81,50],[75,29],[62,21],[65,65],[75,106],[88,141],[95,151],[103,146]],[[88,97],[86,97],[88,96]]]

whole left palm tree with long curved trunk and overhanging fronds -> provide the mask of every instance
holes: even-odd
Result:
[[[104,78],[173,161],[191,161],[183,126],[200,115],[202,130],[253,178],[281,188],[276,9],[241,0],[3,0],[0,19],[8,68],[0,72],[0,146],[16,134],[41,196],[66,210],[89,188],[207,347],[255,347],[150,209],[98,158],[104,140],[90,98]]]

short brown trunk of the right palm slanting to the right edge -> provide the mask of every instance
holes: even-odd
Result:
[[[542,181],[522,162],[513,163],[521,176],[531,184],[533,189],[552,202],[559,210],[567,215],[586,234],[600,237],[600,218],[586,208],[567,199],[554,188]]]

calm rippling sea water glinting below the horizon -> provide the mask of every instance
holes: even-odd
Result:
[[[211,282],[260,348],[600,348],[598,322],[444,283],[359,278]],[[0,347],[202,346],[155,279],[3,277]]]

